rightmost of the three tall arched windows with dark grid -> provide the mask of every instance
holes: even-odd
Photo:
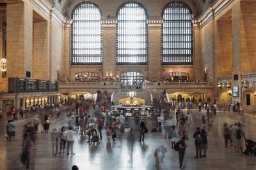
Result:
[[[162,64],[193,64],[193,23],[190,8],[174,1],[164,8]]]

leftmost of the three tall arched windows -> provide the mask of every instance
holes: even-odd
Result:
[[[72,11],[71,64],[102,64],[102,14],[90,2]]]

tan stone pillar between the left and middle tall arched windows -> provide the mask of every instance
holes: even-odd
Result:
[[[102,75],[116,77],[116,19],[102,19]]]

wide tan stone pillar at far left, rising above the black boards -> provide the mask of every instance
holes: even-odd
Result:
[[[26,76],[33,71],[33,10],[27,3],[6,8],[7,77]]]

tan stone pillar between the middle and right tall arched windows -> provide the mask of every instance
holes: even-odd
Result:
[[[148,18],[148,80],[161,80],[162,18]]]

